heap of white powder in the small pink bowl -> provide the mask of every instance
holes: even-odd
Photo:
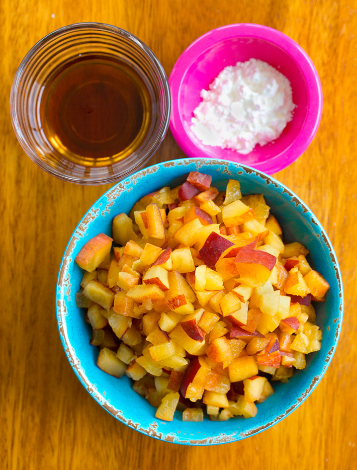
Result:
[[[279,137],[295,105],[289,80],[262,60],[225,67],[201,91],[192,130],[205,145],[249,153]]]

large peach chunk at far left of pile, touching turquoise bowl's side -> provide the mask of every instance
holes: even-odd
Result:
[[[93,272],[108,257],[113,239],[105,233],[99,233],[80,249],[74,261],[88,272]]]

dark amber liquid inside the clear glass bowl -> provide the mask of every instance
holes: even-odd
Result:
[[[88,167],[114,164],[140,145],[150,122],[148,90],[135,70],[105,56],[65,64],[45,85],[40,119],[51,146]]]

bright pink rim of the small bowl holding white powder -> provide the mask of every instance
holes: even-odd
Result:
[[[307,86],[309,105],[306,119],[293,145],[279,152],[273,158],[266,159],[261,156],[258,162],[251,165],[255,169],[271,175],[292,164],[310,145],[320,124],[323,101],[319,75],[310,57],[298,43],[274,28],[253,23],[236,23],[208,31],[192,42],[177,59],[168,79],[172,99],[170,130],[177,144],[186,155],[191,158],[211,158],[204,150],[205,145],[202,144],[202,147],[197,146],[186,133],[180,109],[181,86],[186,73],[205,50],[223,40],[239,37],[261,39],[280,47],[299,65]],[[228,152],[233,153],[231,150],[228,150]],[[218,153],[222,159],[239,161],[245,164],[244,155],[237,154],[237,158],[232,158],[227,154],[227,149],[219,149]],[[219,158],[217,153],[216,158]]]

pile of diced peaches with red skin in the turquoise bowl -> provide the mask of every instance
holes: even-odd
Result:
[[[267,377],[288,381],[321,347],[311,300],[329,284],[308,250],[283,243],[263,195],[211,182],[191,172],[144,196],[75,258],[98,366],[131,377],[161,420],[253,417],[274,393]]]

